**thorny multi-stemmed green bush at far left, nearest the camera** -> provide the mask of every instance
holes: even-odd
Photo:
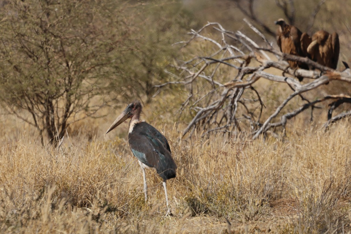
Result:
[[[70,122],[106,102],[103,88],[119,35],[109,31],[105,4],[11,1],[0,13],[0,99],[54,145]]]

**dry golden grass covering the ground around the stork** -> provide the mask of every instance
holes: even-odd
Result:
[[[0,232],[350,232],[348,120],[324,132],[306,113],[281,140],[180,140],[170,111],[177,105],[160,99],[142,116],[169,139],[178,165],[167,183],[172,217],[153,171],[144,201],[128,123],[104,134],[120,110],[72,125],[59,150],[42,148],[35,129],[1,115]]]

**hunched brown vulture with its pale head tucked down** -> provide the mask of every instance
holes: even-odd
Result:
[[[338,34],[329,34],[324,30],[314,33],[312,42],[307,47],[307,53],[311,55],[313,61],[333,69],[338,65],[339,51]]]

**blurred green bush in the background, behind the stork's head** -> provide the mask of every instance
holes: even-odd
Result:
[[[157,0],[138,4],[124,12],[128,34],[116,56],[119,79],[114,87],[124,87],[123,97],[130,101],[155,93],[154,85],[167,80],[165,67],[176,57],[178,47],[194,20],[179,0]]]

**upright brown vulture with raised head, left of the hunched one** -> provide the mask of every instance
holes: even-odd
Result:
[[[307,33],[302,33],[297,27],[288,25],[283,19],[274,22],[279,25],[277,28],[277,44],[280,51],[286,54],[298,55],[302,57],[309,57],[307,47],[311,43],[311,37]],[[309,69],[309,67],[302,62],[288,61],[291,68]],[[302,77],[299,80],[302,81]]]

